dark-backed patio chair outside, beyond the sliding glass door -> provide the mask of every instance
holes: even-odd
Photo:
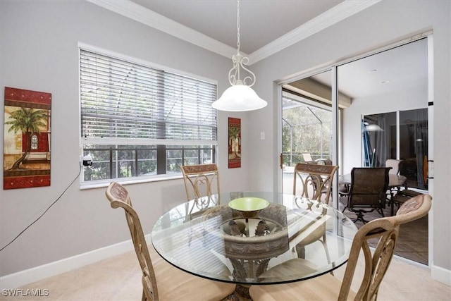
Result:
[[[384,216],[385,192],[388,190],[388,171],[391,167],[354,167],[349,192],[340,192],[345,208],[357,214],[356,221],[367,223],[364,214],[377,210]]]

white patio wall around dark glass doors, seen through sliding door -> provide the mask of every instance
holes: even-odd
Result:
[[[352,99],[343,110],[343,164],[340,174],[350,173],[352,167],[362,166],[362,116],[428,107],[426,86],[410,88],[390,94]]]

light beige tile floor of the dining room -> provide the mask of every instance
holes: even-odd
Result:
[[[335,270],[341,279],[344,267]],[[362,275],[357,270],[357,276]],[[353,283],[353,288],[358,283]],[[0,300],[140,300],[142,293],[140,267],[134,252],[127,252],[96,264],[24,285],[27,289],[47,289],[47,297],[4,297]],[[190,297],[183,300],[190,301]],[[378,300],[451,300],[451,286],[431,279],[430,271],[395,257],[379,290]],[[163,300],[166,301],[166,300]],[[171,300],[167,300],[171,301]],[[194,300],[193,300],[194,301]],[[197,301],[197,300],[196,300]],[[285,301],[285,300],[283,300]]]

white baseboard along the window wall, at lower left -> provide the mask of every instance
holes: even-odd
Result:
[[[146,237],[146,239],[147,241],[150,241],[150,235],[148,236],[149,237]],[[78,269],[82,266],[86,266],[87,264],[93,264],[94,262],[99,262],[102,259],[120,255],[131,250],[133,250],[132,240],[127,240],[125,242],[119,242],[115,245],[101,247],[97,250],[92,250],[73,257],[61,259],[56,262],[50,262],[49,264],[43,264],[42,266],[35,266],[31,269],[1,276],[0,290],[19,288],[20,286],[40,281],[51,276],[56,276],[58,274],[65,273],[66,271]]]

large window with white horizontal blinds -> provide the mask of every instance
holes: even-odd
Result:
[[[180,173],[215,161],[216,84],[80,49],[82,182]]]

